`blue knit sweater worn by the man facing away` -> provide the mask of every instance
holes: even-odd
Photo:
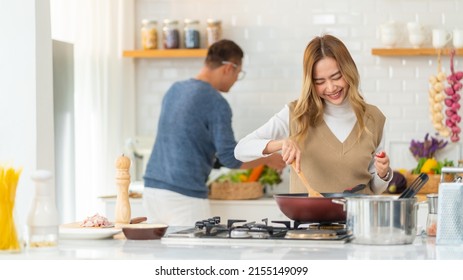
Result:
[[[210,84],[176,82],[162,100],[158,133],[146,166],[145,187],[207,198],[206,181],[216,158],[238,168],[232,111]]]

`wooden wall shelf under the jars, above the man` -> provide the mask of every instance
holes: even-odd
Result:
[[[132,58],[172,58],[172,57],[205,57],[207,49],[162,49],[162,50],[128,50],[124,57]]]

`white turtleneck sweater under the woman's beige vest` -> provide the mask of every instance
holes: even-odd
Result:
[[[333,134],[338,138],[338,140],[344,142],[354,128],[354,125],[357,121],[355,113],[347,100],[344,100],[344,102],[340,105],[335,105],[329,102],[325,104],[323,119]],[[377,147],[376,152],[384,150],[384,135],[385,133],[383,131],[381,143]],[[238,160],[247,162],[266,156],[263,154],[263,150],[267,146],[268,142],[271,140],[280,140],[288,137],[289,107],[288,105],[285,105],[285,107],[280,112],[275,114],[267,123],[252,133],[248,134],[238,142],[238,145],[235,148],[235,157]],[[379,178],[379,176],[376,174],[374,159],[372,159],[370,162],[368,169],[372,176],[374,176],[374,180],[371,184],[373,192],[383,192],[386,189],[388,182],[392,179],[392,176],[389,176],[387,181]]]

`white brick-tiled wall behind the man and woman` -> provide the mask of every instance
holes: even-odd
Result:
[[[417,20],[428,30],[438,26],[452,30],[463,28],[462,14],[463,0],[137,0],[134,40],[140,47],[138,28],[144,18],[158,20],[159,30],[165,18],[199,19],[203,29],[207,18],[221,19],[224,37],[235,40],[246,53],[246,78],[227,95],[239,139],[298,97],[302,55],[310,39],[322,33],[336,35],[357,62],[366,100],[388,118],[387,138],[399,149],[392,151],[392,162],[409,167],[414,160],[408,142],[433,132],[427,80],[437,72],[437,57],[380,57],[371,55],[371,48],[381,47],[379,26],[386,21],[404,25]],[[403,39],[402,45],[409,47]],[[462,62],[457,57],[457,69],[462,69]],[[137,133],[154,135],[164,92],[175,80],[196,75],[202,59],[140,59],[135,63]],[[443,57],[442,64],[448,73],[449,57]],[[458,159],[460,154],[450,156]]]

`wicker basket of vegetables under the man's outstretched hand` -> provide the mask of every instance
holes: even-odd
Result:
[[[214,182],[211,184],[209,198],[238,200],[238,199],[257,199],[264,195],[264,188],[260,183],[230,183]]]

